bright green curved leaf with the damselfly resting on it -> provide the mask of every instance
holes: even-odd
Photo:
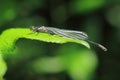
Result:
[[[60,37],[59,35],[51,35],[48,33],[36,33],[29,28],[12,28],[4,31],[0,36],[0,50],[2,53],[8,53],[14,49],[15,42],[19,38],[27,38],[32,40],[40,40],[52,43],[67,43],[75,42],[90,48],[89,44],[83,40],[75,40],[70,38]]]

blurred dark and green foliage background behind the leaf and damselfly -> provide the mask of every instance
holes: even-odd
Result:
[[[6,80],[120,80],[120,0],[0,0],[0,33],[32,25],[84,31],[108,51],[19,39]]]

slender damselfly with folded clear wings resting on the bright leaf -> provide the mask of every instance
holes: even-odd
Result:
[[[102,50],[107,51],[107,48],[105,48],[103,45],[89,40],[88,35],[82,31],[65,30],[65,29],[58,29],[58,28],[45,27],[45,26],[41,26],[41,27],[31,26],[30,29],[33,30],[34,32],[44,32],[44,33],[49,33],[49,34],[56,34],[61,37],[66,37],[66,38],[71,38],[71,39],[85,40],[89,43],[92,43],[98,46]]]

